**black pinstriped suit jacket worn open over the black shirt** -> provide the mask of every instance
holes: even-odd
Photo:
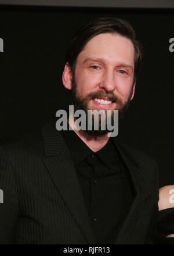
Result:
[[[154,243],[157,164],[114,140],[136,191],[115,244]],[[55,122],[2,141],[0,189],[1,244],[96,243],[73,161]]]

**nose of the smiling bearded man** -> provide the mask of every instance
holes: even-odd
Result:
[[[115,89],[115,75],[113,70],[105,70],[102,77],[102,82],[99,85],[100,89],[104,89],[107,93],[113,92]]]

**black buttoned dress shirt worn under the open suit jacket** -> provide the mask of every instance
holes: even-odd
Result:
[[[73,159],[96,242],[113,244],[131,207],[133,189],[113,138],[93,152],[74,131],[61,131]]]

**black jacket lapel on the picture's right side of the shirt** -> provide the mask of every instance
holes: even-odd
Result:
[[[140,175],[139,165],[137,165],[136,161],[132,158],[132,155],[129,154],[129,151],[126,151],[126,148],[122,147],[121,144],[115,144],[117,145],[122,160],[128,168],[133,189],[135,190],[135,197],[133,198],[131,208],[129,209],[125,221],[121,226],[117,239],[115,240],[115,244],[129,244],[129,237],[132,236],[131,232],[135,227],[136,219],[140,214],[140,208],[143,204],[144,179],[142,175]]]

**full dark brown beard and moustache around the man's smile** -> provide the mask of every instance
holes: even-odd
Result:
[[[98,137],[98,136],[102,137],[102,136],[106,135],[107,133],[110,133],[111,130],[107,129],[107,122],[110,122],[111,126],[114,125],[114,110],[119,111],[119,119],[124,117],[125,112],[128,110],[128,106],[131,101],[132,93],[133,93],[133,86],[132,86],[128,101],[126,101],[125,103],[122,102],[122,99],[118,95],[114,95],[113,93],[105,93],[104,91],[97,91],[96,93],[89,94],[85,98],[81,98],[77,91],[77,84],[75,83],[75,80],[73,79],[73,86],[71,89],[71,101],[72,101],[72,104],[74,105],[74,112],[78,111],[78,110],[83,110],[86,114],[85,115],[86,116],[86,130],[83,130],[83,131],[92,137]],[[104,130],[102,129],[103,119],[101,118],[100,115],[99,115],[99,119],[98,119],[99,129],[95,130],[95,120],[96,119],[95,119],[94,115],[92,115],[92,130],[88,130],[88,115],[89,115],[90,111],[97,109],[97,108],[89,109],[88,103],[91,99],[95,99],[95,98],[108,98],[109,101],[115,102],[115,109],[111,110],[111,115],[107,116],[107,110],[103,109],[107,116],[107,118],[104,120],[104,122],[105,122],[104,127],[106,127],[106,129],[104,129]],[[101,108],[99,108],[97,110],[100,111]],[[77,118],[75,118],[75,117],[74,117],[74,119],[77,120]]]

